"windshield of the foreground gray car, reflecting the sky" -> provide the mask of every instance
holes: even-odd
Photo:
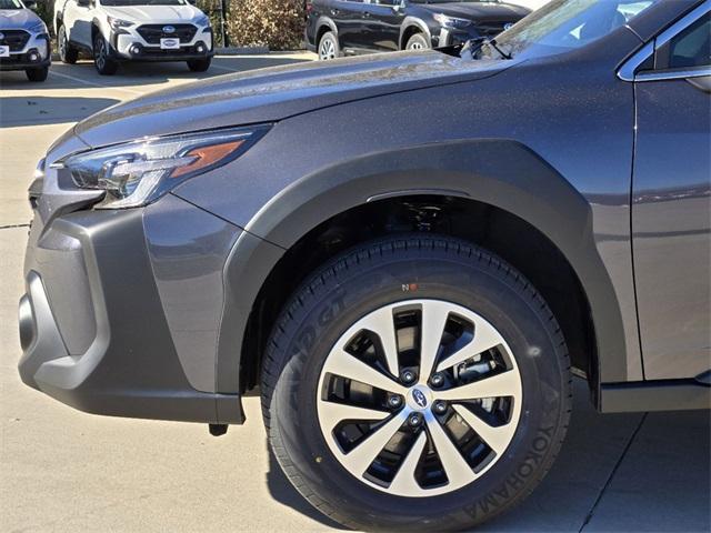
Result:
[[[584,47],[611,33],[661,0],[554,0],[495,39],[479,58],[551,56]],[[497,48],[499,50],[497,50]]]

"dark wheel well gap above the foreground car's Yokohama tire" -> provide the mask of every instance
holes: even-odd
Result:
[[[565,338],[573,369],[597,383],[592,315],[580,280],[561,251],[524,220],[499,208],[454,197],[398,197],[367,203],[321,223],[293,244],[268,275],[247,324],[240,390],[259,383],[261,354],[290,295],[339,253],[398,233],[432,232],[471,241],[515,266],[543,295]]]

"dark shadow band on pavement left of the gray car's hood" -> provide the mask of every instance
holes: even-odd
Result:
[[[0,128],[76,122],[118,102],[111,98],[2,97]]]

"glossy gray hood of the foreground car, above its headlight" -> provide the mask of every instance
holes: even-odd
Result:
[[[117,104],[80,122],[74,132],[100,147],[137,137],[274,122],[349,101],[488,78],[515,62],[463,60],[430,50],[252,70]]]

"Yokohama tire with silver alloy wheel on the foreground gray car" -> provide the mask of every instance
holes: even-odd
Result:
[[[450,312],[452,309],[453,313]],[[403,324],[405,328],[398,329],[404,332],[398,340],[400,366],[389,373],[392,361],[388,361],[389,351],[383,346],[395,346],[394,334],[385,328],[383,331],[390,331],[390,335],[374,333],[373,341],[373,333],[368,331],[375,331],[382,324],[392,325],[391,311],[400,313],[395,328]],[[444,311],[449,314],[442,314]],[[422,315],[429,319],[423,320]],[[418,320],[435,323],[440,319],[432,318],[437,316],[447,316],[439,325],[445,323],[451,336],[440,336],[438,332],[443,328],[425,328],[421,330],[425,333],[420,343],[432,348],[444,344],[445,340],[457,341],[440,349],[441,352],[437,349],[427,351],[440,353],[439,362],[434,364],[447,366],[455,361],[442,359],[444,353],[451,358],[464,353],[454,348],[465,339],[464,332],[472,331],[469,320],[474,320],[473,339],[480,343],[475,348],[472,345],[471,353],[494,340],[497,348],[468,360],[463,363],[465,368],[457,363],[439,372],[438,380],[443,380],[443,384],[435,382],[437,375],[431,374],[430,380],[425,380],[427,385],[422,385],[417,376],[419,369],[415,369],[418,385],[408,389],[402,384],[405,378],[411,378],[407,375],[411,370],[407,365],[415,361],[412,355],[419,351],[417,341],[411,341],[417,334],[408,328]],[[409,331],[411,336],[408,336]],[[500,333],[500,338],[487,336],[494,333]],[[387,341],[389,336],[393,339],[391,344]],[[471,338],[467,339],[471,341]],[[431,340],[437,342],[432,344]],[[357,356],[344,355],[344,346]],[[414,351],[408,346],[415,346]],[[354,363],[357,358],[360,358],[360,364]],[[367,372],[364,368],[368,368]],[[379,370],[373,370],[375,368]],[[472,379],[472,369],[478,369],[473,374],[474,383],[481,381],[484,389],[487,383],[493,388],[485,394],[493,394],[494,389],[497,393],[495,400],[469,403],[471,409],[479,411],[464,408],[451,396],[452,390],[454,395],[467,398],[472,390],[484,394],[482,389],[471,389],[478,384],[467,384]],[[398,382],[397,372],[401,378],[397,386],[407,389],[399,408],[390,403],[391,395],[384,396],[368,386],[369,383],[395,386],[392,383]],[[339,375],[348,375],[351,381]],[[510,389],[503,390],[503,383]],[[464,389],[458,391],[457,386],[467,386],[467,392],[462,392]],[[415,389],[421,390],[424,404]],[[427,394],[430,394],[429,403]],[[452,401],[441,405],[433,402],[438,396]],[[384,419],[378,413],[378,420],[387,422],[373,428],[371,422],[362,422],[365,415],[360,411],[358,416],[346,411],[349,413],[346,416],[334,418],[332,414],[342,411],[343,402],[358,402],[353,405],[390,412]],[[438,415],[435,408],[437,413],[440,413],[439,408],[447,411]],[[447,237],[411,235],[374,241],[318,270],[284,308],[262,362],[262,414],[279,464],[294,487],[319,511],[358,530],[462,530],[510,509],[530,494],[550,469],[565,435],[570,411],[568,351],[558,323],[541,295],[500,258]],[[465,412],[469,414],[464,419],[461,413]],[[472,415],[473,412],[479,414]],[[412,413],[419,413],[419,426],[411,425]],[[349,416],[356,416],[363,425],[349,422]],[[489,420],[483,425],[482,416]],[[341,418],[344,425],[333,425]],[[442,440],[444,433],[440,421],[443,420],[455,425],[467,420],[464,429],[471,421],[487,439],[480,440],[475,436],[478,433],[471,439],[470,434],[470,441],[457,441],[460,446],[457,447],[453,440]],[[329,431],[331,426],[339,431]],[[460,425],[457,428],[461,429]],[[393,466],[393,457],[398,455],[392,450],[384,455],[380,452],[375,455],[377,461],[369,462],[380,444],[372,444],[370,452],[368,446],[359,447],[363,442],[377,440],[389,442],[390,446],[393,441],[387,441],[389,433],[385,431],[395,431],[401,439],[399,445],[405,444],[395,461],[401,466]],[[340,441],[337,442],[334,435]],[[381,440],[383,435],[385,441]],[[421,460],[418,450],[423,447],[417,447],[420,442],[423,442],[421,446],[433,444],[438,457],[442,452],[439,464],[431,460],[431,452],[428,452],[427,461]],[[350,454],[343,454],[343,449],[350,449]],[[498,452],[492,452],[494,449]],[[412,450],[415,450],[414,459],[409,461]],[[472,462],[467,467],[459,467],[461,450],[470,453]],[[419,470],[415,469],[418,457]],[[367,474],[362,474],[365,469]],[[483,470],[477,474],[473,469]],[[398,477],[400,471],[402,480]],[[442,471],[447,477],[442,477]],[[395,477],[389,482],[387,476],[392,472]],[[420,479],[412,484],[418,475]],[[422,489],[428,479],[434,483]],[[413,495],[417,497],[410,497]]]

